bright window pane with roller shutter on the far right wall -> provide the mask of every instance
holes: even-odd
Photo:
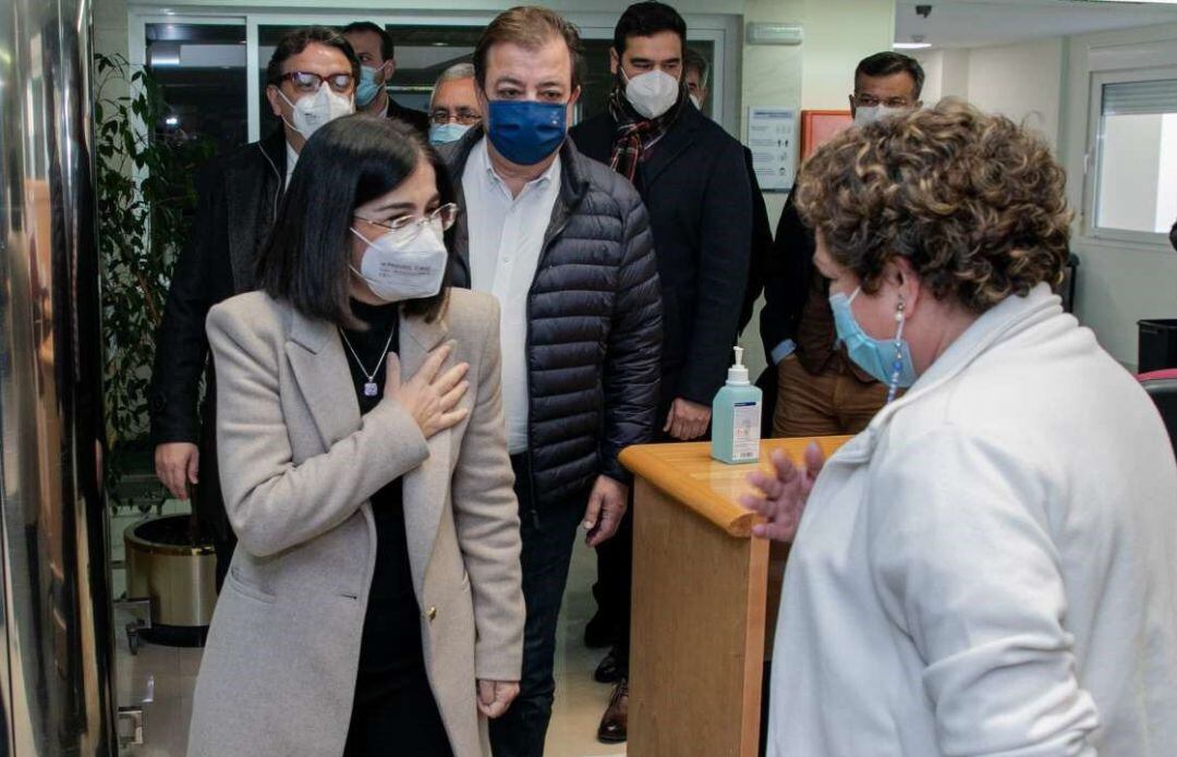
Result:
[[[1177,219],[1177,80],[1103,87],[1096,226],[1165,233]]]

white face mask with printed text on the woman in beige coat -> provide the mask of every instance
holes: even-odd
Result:
[[[367,242],[360,269],[352,273],[364,280],[372,294],[385,302],[424,300],[441,290],[450,255],[445,242],[432,228],[415,235],[392,230],[370,240],[355,228],[352,234]]]

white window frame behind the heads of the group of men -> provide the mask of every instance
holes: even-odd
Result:
[[[148,24],[244,24],[246,40],[246,113],[248,116],[248,140],[261,138],[261,81],[255,65],[258,60],[258,27],[271,25],[313,25],[339,26],[348,21],[363,19],[385,26],[486,26],[494,19],[497,11],[360,11],[345,9],[330,13],[307,13],[300,8],[287,9],[218,7],[204,11],[182,7],[175,11],[161,11],[153,7],[132,6],[127,9],[127,33],[129,39],[132,65],[146,63],[146,31]],[[564,18],[576,24],[584,39],[612,39],[617,24],[616,13],[563,13]],[[684,16],[692,41],[710,41],[713,43],[714,56],[710,72],[709,87],[717,120],[729,133],[739,133],[739,82],[736,73],[739,69],[739,32],[740,19],[723,14],[687,14]],[[141,128],[141,125],[140,125]]]

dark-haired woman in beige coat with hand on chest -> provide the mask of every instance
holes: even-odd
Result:
[[[518,692],[519,520],[498,304],[444,287],[451,197],[410,127],[332,121],[261,290],[208,315],[239,548],[192,757],[490,753]]]

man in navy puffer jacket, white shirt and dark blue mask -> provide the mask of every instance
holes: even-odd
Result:
[[[576,28],[545,8],[499,15],[474,49],[486,132],[446,145],[463,213],[455,286],[503,307],[503,395],[527,602],[520,694],[491,721],[496,757],[543,755],[556,625],[578,524],[610,538],[631,476],[618,454],[650,440],[661,297],[633,187],[566,139],[580,89]],[[476,597],[477,599],[477,597]],[[494,712],[497,695],[479,692]]]

